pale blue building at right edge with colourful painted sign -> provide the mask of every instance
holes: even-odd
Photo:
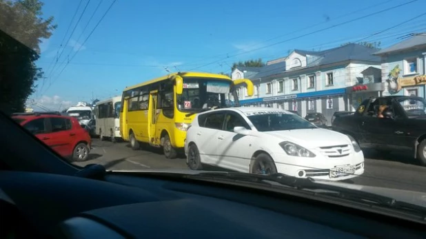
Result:
[[[376,52],[381,56],[383,95],[425,98],[426,33],[414,36]]]

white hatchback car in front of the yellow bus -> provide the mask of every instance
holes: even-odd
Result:
[[[285,110],[234,107],[198,114],[187,129],[190,169],[214,165],[237,172],[345,180],[364,173],[354,138],[321,129]]]

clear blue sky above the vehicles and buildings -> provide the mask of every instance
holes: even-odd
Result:
[[[41,39],[37,66],[45,73],[29,99],[34,109],[121,95],[168,71],[230,72],[236,61],[269,61],[294,49],[365,37],[384,48],[426,32],[425,0],[42,2],[43,18],[53,16],[58,27]]]

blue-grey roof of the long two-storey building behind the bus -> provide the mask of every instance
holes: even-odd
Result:
[[[298,54],[310,55],[312,57],[307,57],[307,66],[313,67],[318,65],[329,65],[332,63],[338,63],[343,61],[365,61],[379,64],[381,58],[379,56],[374,56],[373,53],[377,52],[376,48],[367,48],[364,45],[359,45],[356,43],[350,43],[347,45],[340,46],[338,48],[332,48],[329,50],[323,51],[305,51],[305,50],[294,50]],[[285,61],[274,63],[270,65],[265,65],[261,70],[250,77],[249,79],[259,79],[266,76],[272,76],[275,74],[281,74],[286,72]],[[303,69],[303,68],[297,68]]]

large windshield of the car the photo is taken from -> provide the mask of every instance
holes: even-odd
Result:
[[[0,111],[73,169],[426,193],[425,4],[0,0]]]

